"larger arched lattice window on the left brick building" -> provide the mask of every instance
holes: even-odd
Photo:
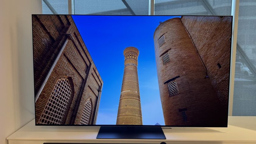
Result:
[[[38,124],[62,124],[71,95],[72,86],[69,79],[58,79]]]

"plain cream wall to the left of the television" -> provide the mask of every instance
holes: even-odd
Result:
[[[41,0],[0,2],[0,144],[34,119],[31,14],[41,13]]]

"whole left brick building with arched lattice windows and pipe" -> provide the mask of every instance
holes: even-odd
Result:
[[[32,22],[36,124],[96,124],[103,81],[72,17]]]

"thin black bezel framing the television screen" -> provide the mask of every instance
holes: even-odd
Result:
[[[33,15],[53,15],[53,16],[56,16],[55,14],[32,14],[31,15],[31,23],[32,23],[32,26],[33,26]],[[229,91],[228,91],[228,96],[230,97],[229,93],[230,93],[230,75],[231,75],[231,56],[232,56],[232,32],[233,32],[233,16],[232,15],[69,15],[69,14],[57,14],[58,16],[146,16],[146,17],[150,17],[150,16],[210,16],[210,17],[220,17],[220,16],[229,16],[231,17],[231,40],[230,40],[230,55],[229,55],[229,85],[228,85],[228,88],[229,88]],[[72,18],[73,19],[73,18]],[[76,26],[76,23],[75,23],[75,26]],[[76,26],[77,28],[77,26]],[[157,27],[156,27],[157,28]],[[78,33],[80,34],[79,30],[78,30]],[[82,37],[81,37],[82,38]],[[83,38],[82,38],[83,40]],[[83,40],[84,41],[84,40]],[[34,78],[34,43],[33,43],[33,27],[32,27],[32,49],[33,49],[33,78]],[[93,61],[93,60],[92,60]],[[207,127],[207,128],[227,128],[228,127],[228,114],[229,114],[229,97],[228,97],[228,104],[227,104],[227,117],[226,117],[226,125],[224,126],[220,126],[220,125],[70,125],[70,124],[60,124],[60,125],[52,125],[52,124],[37,124],[36,121],[35,121],[35,125],[36,126],[125,126],[125,127],[167,127],[167,128],[170,128],[170,127]],[[34,96],[34,112],[36,112],[36,105],[35,105],[35,96]],[[36,114],[36,113],[35,113]],[[35,115],[34,114],[34,115]]]

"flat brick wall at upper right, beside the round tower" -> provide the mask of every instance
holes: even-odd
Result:
[[[183,16],[181,20],[201,55],[222,106],[228,109],[231,16]]]

